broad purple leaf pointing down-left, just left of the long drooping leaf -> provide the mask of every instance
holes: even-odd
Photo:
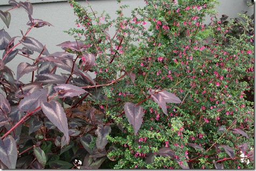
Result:
[[[41,102],[47,101],[47,91],[45,89],[37,90],[24,99],[20,100],[18,109],[30,113],[36,108],[40,107]]]

